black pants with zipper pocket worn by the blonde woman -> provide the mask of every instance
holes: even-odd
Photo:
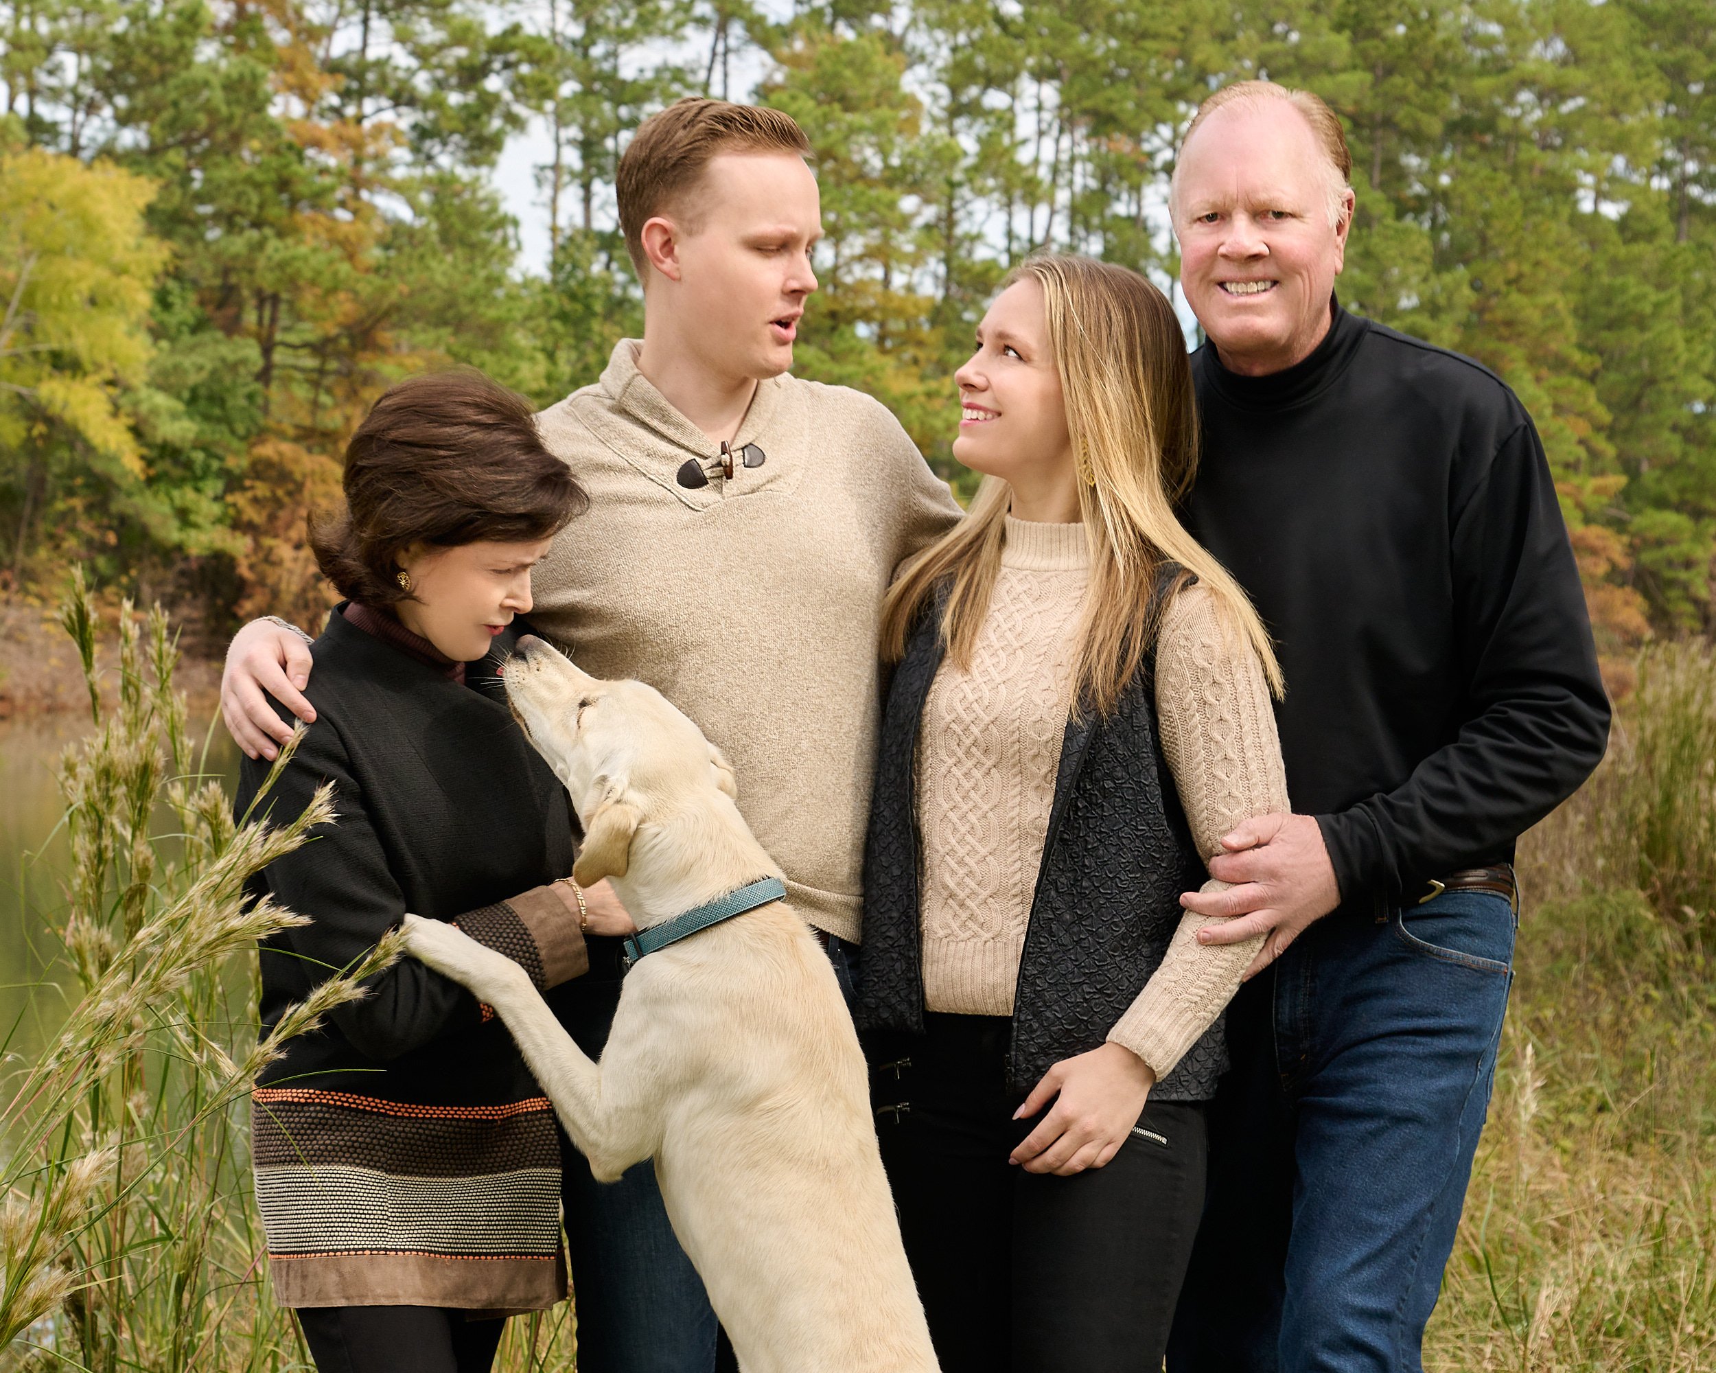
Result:
[[[1004,1066],[1000,1016],[875,1037],[872,1104],[944,1373],[1160,1373],[1203,1208],[1198,1102],[1150,1102],[1107,1167],[1026,1172],[1035,1119]],[[1026,1085],[1030,1086],[1030,1085]]]

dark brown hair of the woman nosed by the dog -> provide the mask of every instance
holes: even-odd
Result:
[[[556,534],[589,505],[530,402],[460,367],[383,393],[345,448],[345,510],[311,522],[323,577],[366,606],[407,599],[398,556]]]

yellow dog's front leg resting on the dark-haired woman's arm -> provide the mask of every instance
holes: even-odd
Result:
[[[619,1110],[604,1104],[602,1069],[554,1019],[523,968],[446,922],[415,915],[405,916],[405,947],[494,1007],[601,1181],[619,1177],[656,1152],[659,1128],[652,1129],[652,1114],[640,1110],[640,1102]]]

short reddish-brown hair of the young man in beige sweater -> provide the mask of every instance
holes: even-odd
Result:
[[[638,125],[614,172],[619,232],[638,280],[645,278],[644,225],[685,197],[719,153],[796,153],[810,156],[798,120],[767,105],[686,96]]]

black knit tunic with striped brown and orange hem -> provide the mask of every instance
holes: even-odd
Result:
[[[252,884],[312,918],[261,946],[264,1033],[407,911],[458,923],[544,990],[589,966],[547,887],[571,870],[566,795],[511,721],[494,662],[463,685],[410,649],[338,613],[312,647],[317,719],[264,807],[285,820],[331,781],[338,819]],[[240,814],[266,769],[244,764]],[[402,959],[288,1042],[251,1122],[283,1306],[565,1297],[554,1112],[506,1028],[422,963]]]

